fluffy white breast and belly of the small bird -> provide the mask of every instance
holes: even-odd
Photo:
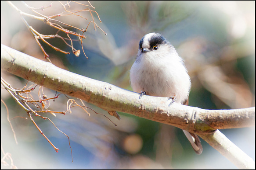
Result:
[[[153,52],[153,51],[152,51]],[[130,69],[130,80],[133,91],[159,97],[176,96],[177,103],[183,103],[187,99],[191,82],[187,70],[177,55],[164,57],[166,54],[151,52],[137,57]],[[158,54],[158,55],[156,55]],[[161,55],[161,58],[159,58]]]

